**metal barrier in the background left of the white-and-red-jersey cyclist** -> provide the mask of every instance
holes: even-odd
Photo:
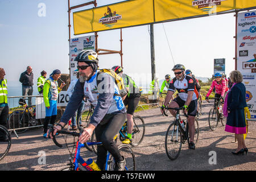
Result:
[[[141,101],[139,101],[139,105],[138,107],[142,107],[146,106],[146,105],[159,105],[159,92],[160,89],[159,88],[144,88],[144,87],[140,87],[140,89],[142,89],[141,92]],[[144,110],[144,109],[143,109]]]

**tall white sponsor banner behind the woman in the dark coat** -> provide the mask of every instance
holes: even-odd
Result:
[[[243,75],[246,102],[251,118],[256,121],[256,11],[237,16],[237,70]]]

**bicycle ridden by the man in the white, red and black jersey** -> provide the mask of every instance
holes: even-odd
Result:
[[[166,132],[166,138],[164,141],[165,148],[166,148],[166,154],[169,159],[175,160],[180,154],[180,150],[182,147],[182,144],[185,144],[187,141],[189,144],[190,136],[189,136],[189,126],[187,121],[184,122],[184,128],[181,127],[181,119],[180,119],[180,110],[183,110],[183,107],[178,108],[172,108],[167,107],[166,109],[174,109],[177,111],[176,117],[174,119],[174,122],[170,124],[170,126],[167,129]],[[163,110],[164,115],[168,116],[166,114],[166,111]],[[185,117],[188,117],[187,114],[185,114]],[[197,121],[197,118],[195,118],[195,137],[194,137],[194,143],[197,143],[197,140],[199,138],[199,122]]]

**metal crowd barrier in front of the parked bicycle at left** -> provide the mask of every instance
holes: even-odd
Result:
[[[45,117],[45,105],[43,96],[11,96],[8,98],[9,117],[7,119],[8,131],[14,132],[16,138],[17,133],[23,133],[27,129],[34,127],[42,127]],[[26,104],[19,104],[20,98],[26,101]],[[32,105],[28,106],[27,101],[31,100]]]

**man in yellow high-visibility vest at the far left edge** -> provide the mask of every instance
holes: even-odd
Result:
[[[6,127],[9,106],[7,102],[7,81],[4,77],[5,70],[0,68],[0,125]]]

